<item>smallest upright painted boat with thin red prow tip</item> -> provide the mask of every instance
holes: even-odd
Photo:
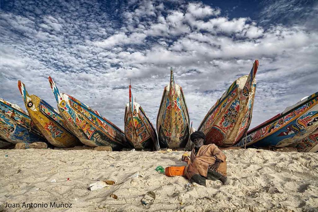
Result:
[[[159,150],[156,130],[142,107],[134,101],[129,85],[129,103],[125,109],[126,141],[136,149]]]

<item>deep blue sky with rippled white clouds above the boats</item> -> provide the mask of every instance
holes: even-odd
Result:
[[[124,130],[132,92],[156,125],[170,66],[197,128],[259,60],[251,126],[318,91],[318,2],[1,1],[0,97],[52,106],[48,82]]]

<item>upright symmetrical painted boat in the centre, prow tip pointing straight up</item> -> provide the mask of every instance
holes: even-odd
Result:
[[[161,148],[183,148],[189,140],[189,113],[183,90],[175,84],[170,68],[170,84],[165,86],[157,115],[157,132]]]

